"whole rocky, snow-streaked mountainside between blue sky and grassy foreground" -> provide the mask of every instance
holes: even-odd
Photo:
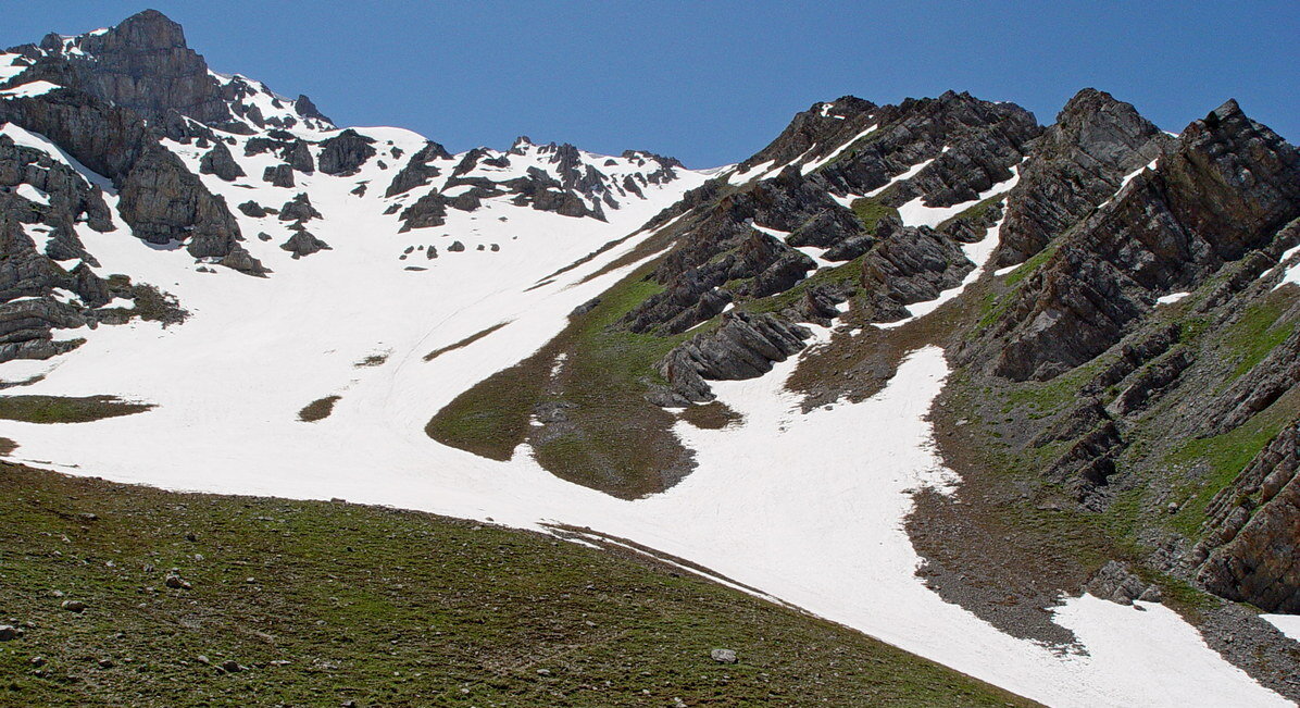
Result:
[[[153,10],[0,53],[12,461],[630,549],[1049,704],[1300,700],[1297,319],[1234,100],[689,170],[341,129]]]

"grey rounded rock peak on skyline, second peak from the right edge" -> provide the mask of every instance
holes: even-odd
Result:
[[[1113,195],[1126,174],[1174,142],[1105,91],[1075,94],[1020,167],[1020,182],[1008,195],[994,264],[1011,266],[1041,251]]]

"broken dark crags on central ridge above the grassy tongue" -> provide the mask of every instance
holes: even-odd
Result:
[[[718,314],[708,299],[719,299],[714,289],[724,284],[731,284],[729,295],[741,299],[788,290],[815,267],[793,247],[827,249],[823,258],[829,260],[864,258],[859,288],[876,311],[872,316],[880,320],[906,316],[904,305],[932,299],[970,272],[971,264],[953,236],[902,229],[889,215],[866,233],[862,221],[829,194],[879,191],[894,176],[930,160],[928,167],[874,200],[887,208],[918,197],[927,206],[974,200],[1011,177],[1010,168],[1039,134],[1034,117],[1011,104],[953,92],[909,99],[897,107],[852,98],[826,105],[800,113],[777,141],[740,169],[838,152],[833,163],[809,174],[786,167],[776,177],[746,184],[722,198],[716,195],[723,187],[706,185],[673,210],[685,215],[689,228],[681,229],[684,236],[655,271],[666,292],[628,315],[630,329],[658,327],[660,333],[673,333],[693,327]],[[753,226],[758,225],[789,236],[764,237],[763,243],[754,237]],[[819,285],[792,314],[823,321],[845,297],[842,288]]]

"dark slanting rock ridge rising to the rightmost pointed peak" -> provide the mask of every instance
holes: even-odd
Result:
[[[1105,351],[1158,294],[1191,289],[1300,216],[1300,154],[1228,102],[1088,217],[1022,289],[994,371],[1049,379]]]

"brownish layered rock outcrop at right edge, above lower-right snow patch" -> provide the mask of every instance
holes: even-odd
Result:
[[[1197,580],[1230,600],[1300,613],[1300,428],[1282,431],[1206,514],[1213,531],[1196,547]]]

